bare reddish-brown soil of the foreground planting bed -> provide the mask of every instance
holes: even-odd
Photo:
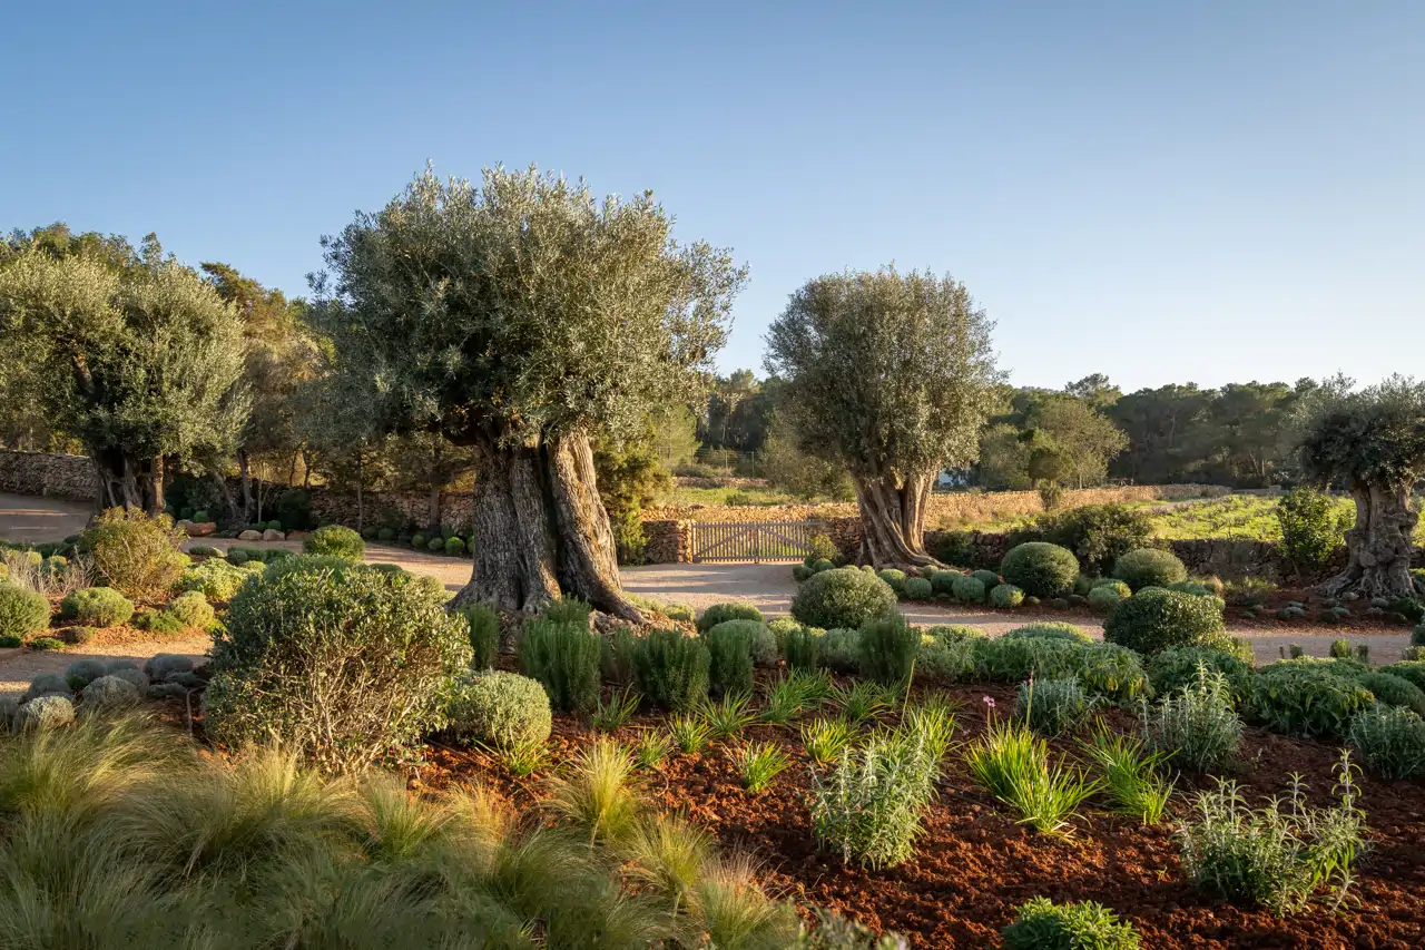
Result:
[[[983,729],[982,696],[1000,709],[1013,688],[949,690],[963,702],[958,739]],[[1131,719],[1109,713],[1129,727]],[[624,742],[663,717],[640,716],[617,735]],[[581,723],[559,716],[551,740],[554,763],[591,737]],[[1371,829],[1369,852],[1344,906],[1322,903],[1277,919],[1197,893],[1184,880],[1173,822],[1141,827],[1099,806],[1086,807],[1072,839],[1039,834],[1016,824],[1006,806],[979,789],[958,753],[945,762],[939,799],[925,816],[915,856],[899,867],[868,872],[821,853],[804,802],[808,760],[797,730],[754,726],[741,739],[779,742],[794,765],[762,795],[742,790],[725,745],[701,755],[677,752],[661,773],[644,780],[644,795],[665,810],[685,810],[727,847],[755,853],[768,890],[802,906],[834,907],[871,927],[905,934],[915,947],[995,947],[1013,909],[1030,897],[1097,900],[1131,920],[1151,950],[1292,947],[1311,950],[1418,950],[1425,946],[1425,782],[1361,779],[1359,805]],[[1073,742],[1054,743],[1060,753]],[[1238,775],[1253,799],[1278,795],[1292,772],[1311,785],[1317,805],[1330,803],[1340,750],[1248,730]],[[550,766],[556,767],[556,766]],[[547,772],[549,769],[543,770]],[[413,785],[442,789],[480,780],[517,806],[542,796],[540,775],[512,779],[486,755],[433,745]],[[1207,777],[1180,782],[1180,790],[1211,787]],[[1177,814],[1190,813],[1186,796]]]

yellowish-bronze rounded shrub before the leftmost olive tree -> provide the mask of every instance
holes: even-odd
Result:
[[[134,601],[157,601],[172,591],[188,563],[178,549],[182,532],[167,515],[111,508],[80,533],[78,551],[108,586]]]

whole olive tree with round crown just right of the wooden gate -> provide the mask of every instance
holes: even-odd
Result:
[[[949,275],[828,274],[792,294],[767,334],[804,451],[845,466],[862,562],[926,565],[926,504],[942,468],[979,454],[998,381],[993,322]]]

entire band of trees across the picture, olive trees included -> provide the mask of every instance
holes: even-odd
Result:
[[[694,442],[852,495],[859,559],[878,568],[933,562],[923,528],[942,471],[1046,491],[1116,472],[1298,471],[1357,498],[1357,576],[1342,583],[1399,586],[1409,562],[1425,388],[1408,379],[1013,389],[968,288],[893,267],[809,280],[768,328],[768,378],[717,379],[745,265],[677,241],[651,194],[598,197],[536,168],[477,183],[428,168],[322,250],[311,297],[286,300],[225,264],[185,267],[152,237],[11,234],[7,439],[76,444],[104,506],[158,512],[174,491],[208,492],[238,523],[284,476],[358,498],[415,479],[433,505],[473,478],[457,602],[510,611],[576,595],[638,616],[618,546]]]

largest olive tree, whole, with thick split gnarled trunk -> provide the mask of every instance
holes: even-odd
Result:
[[[426,170],[323,241],[312,320],[343,372],[372,384],[372,418],[473,448],[475,566],[457,602],[534,611],[573,595],[638,616],[590,439],[631,438],[650,407],[701,392],[745,280],[671,225],[648,193]]]

